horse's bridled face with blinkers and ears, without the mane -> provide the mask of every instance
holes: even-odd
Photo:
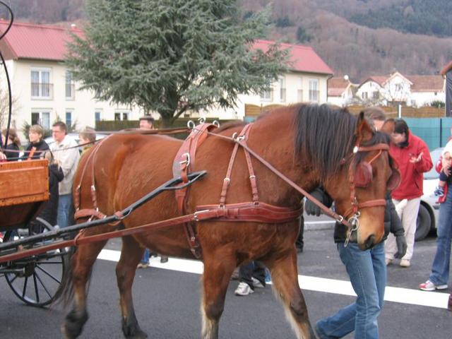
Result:
[[[398,186],[400,174],[388,153],[388,134],[374,131],[362,113],[353,140],[352,152],[344,158],[338,180],[347,182],[348,189],[333,185],[335,206],[337,213],[357,227],[351,239],[361,249],[369,249],[383,238],[386,194]]]

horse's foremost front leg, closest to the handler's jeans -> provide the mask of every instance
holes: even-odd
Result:
[[[295,247],[287,254],[279,254],[275,261],[268,261],[275,295],[283,302],[287,320],[297,338],[315,338],[309,323],[308,311],[302,290],[298,285],[297,252]]]

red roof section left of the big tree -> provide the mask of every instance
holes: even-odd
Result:
[[[0,32],[8,28],[8,21],[0,20]],[[11,30],[1,40],[5,59],[64,60],[66,42],[71,38],[69,30],[83,35],[76,28],[62,28],[54,25],[13,23]]]

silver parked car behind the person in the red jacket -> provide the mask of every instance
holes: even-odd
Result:
[[[436,231],[438,222],[439,203],[438,197],[434,196],[434,190],[438,186],[439,174],[434,168],[441,156],[443,148],[435,148],[430,152],[433,168],[424,173],[424,195],[421,197],[419,213],[417,213],[415,240],[422,240],[430,232]]]

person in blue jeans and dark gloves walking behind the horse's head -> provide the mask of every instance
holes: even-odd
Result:
[[[326,206],[331,206],[333,201],[321,188],[311,192]],[[318,206],[307,200],[304,210],[308,215],[320,215]],[[391,200],[391,195],[386,196],[386,208],[384,218],[386,239],[389,232],[396,236],[398,252],[396,258],[401,258],[407,250],[404,230],[396,208]],[[379,326],[377,318],[383,308],[384,290],[386,287],[386,262],[384,254],[384,241],[372,249],[362,251],[356,242],[350,242],[345,246],[347,227],[336,222],[334,241],[338,248],[340,260],[350,277],[350,283],[357,294],[356,302],[340,309],[333,316],[328,316],[317,321],[314,331],[320,339],[343,338],[348,333],[355,331],[355,338],[375,339],[379,338]]]

